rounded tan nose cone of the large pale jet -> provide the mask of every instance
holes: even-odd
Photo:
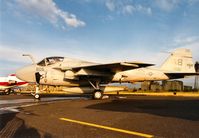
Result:
[[[35,82],[35,66],[30,65],[16,71],[17,78],[26,82]]]

